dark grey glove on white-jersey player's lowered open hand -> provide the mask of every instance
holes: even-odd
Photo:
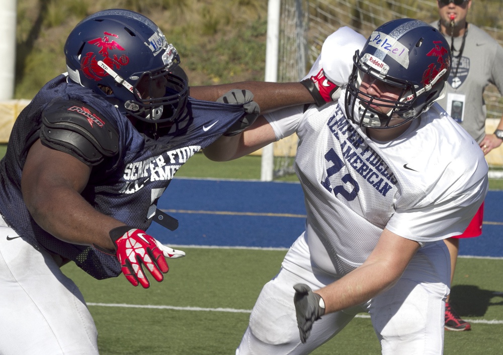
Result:
[[[320,295],[314,293],[305,284],[297,284],[293,288],[295,289],[293,302],[295,303],[300,340],[306,342],[311,334],[314,321],[325,314],[325,303]]]

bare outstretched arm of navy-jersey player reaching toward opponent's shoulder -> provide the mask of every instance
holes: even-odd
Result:
[[[241,81],[232,84],[193,86],[190,88],[190,94],[200,100],[216,101],[231,89],[246,89],[253,92],[254,101],[259,104],[261,113],[314,102],[309,91],[298,82]]]

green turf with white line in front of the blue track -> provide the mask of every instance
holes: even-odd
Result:
[[[90,304],[102,354],[234,353],[247,326],[246,311],[286,251],[184,250],[185,258],[170,261],[166,279],[147,290],[132,287],[122,275],[98,281],[74,264],[63,268]],[[456,273],[452,302],[472,321],[472,330],[446,332],[445,354],[503,353],[503,324],[489,323],[503,320],[503,260],[460,258]],[[363,316],[313,353],[380,353],[370,319]]]

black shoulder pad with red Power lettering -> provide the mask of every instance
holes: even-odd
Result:
[[[119,151],[119,133],[90,105],[77,100],[60,100],[42,112],[42,144],[68,153],[88,165]]]

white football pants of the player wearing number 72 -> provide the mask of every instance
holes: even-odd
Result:
[[[440,241],[421,248],[399,281],[365,304],[330,313],[313,324],[307,342],[300,341],[293,285],[313,290],[333,281],[310,262],[302,234],[283,260],[279,274],[262,289],[236,354],[306,354],[339,333],[360,312],[370,314],[383,354],[443,352],[445,298],[449,294],[450,258]],[[333,340],[337,346],[337,340]],[[358,353],[358,343],[354,352]]]

